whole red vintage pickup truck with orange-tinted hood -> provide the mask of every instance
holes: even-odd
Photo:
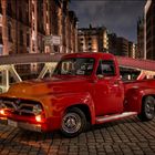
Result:
[[[8,125],[60,130],[68,137],[90,125],[134,115],[154,118],[155,80],[123,82],[108,53],[66,54],[52,78],[16,83],[0,95],[0,117]]]

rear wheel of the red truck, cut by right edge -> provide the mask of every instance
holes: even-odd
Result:
[[[141,121],[151,121],[155,116],[155,99],[146,96],[142,103],[142,112],[137,115]]]

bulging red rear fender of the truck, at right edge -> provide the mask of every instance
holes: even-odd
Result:
[[[143,97],[147,95],[155,95],[155,89],[130,89],[125,93],[124,111],[141,113]]]

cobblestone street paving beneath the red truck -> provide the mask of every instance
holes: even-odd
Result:
[[[75,138],[0,125],[0,155],[154,155],[155,120],[136,117],[93,126]]]

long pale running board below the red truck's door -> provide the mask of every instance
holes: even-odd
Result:
[[[111,122],[111,121],[115,121],[115,120],[121,120],[124,117],[128,117],[128,116],[134,116],[137,115],[137,112],[125,112],[122,114],[113,114],[113,115],[105,115],[105,116],[97,116],[96,117],[96,123],[104,123],[104,122]]]

